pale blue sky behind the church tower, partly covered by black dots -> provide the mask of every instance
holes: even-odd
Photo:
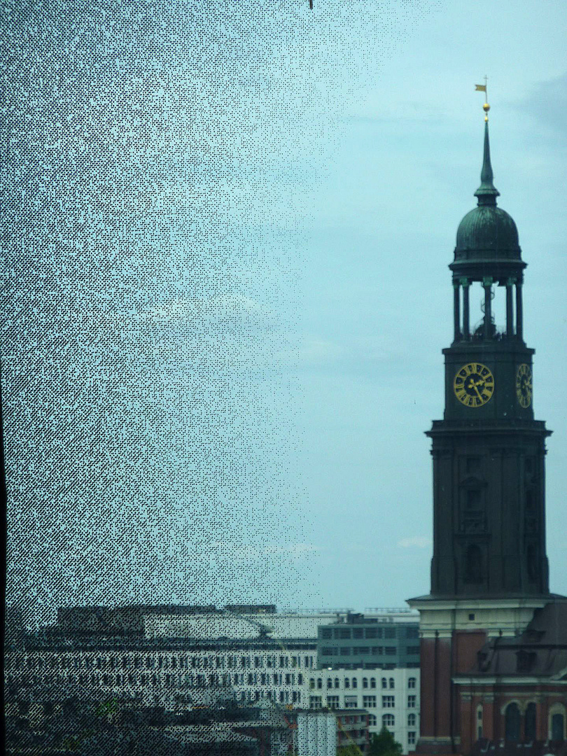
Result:
[[[426,593],[486,73],[567,592],[563,2],[193,5],[48,4],[52,48],[18,42],[12,590],[42,616]]]

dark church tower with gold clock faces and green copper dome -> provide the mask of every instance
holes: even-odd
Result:
[[[534,420],[523,336],[522,260],[513,219],[497,206],[485,104],[478,206],[460,222],[452,273],[454,336],[445,414],[427,432],[433,457],[431,593],[420,610],[417,750],[460,752],[455,675],[489,639],[515,636],[550,600],[545,547],[545,439]]]

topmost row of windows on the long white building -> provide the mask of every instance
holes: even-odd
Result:
[[[40,655],[23,657],[22,655],[8,655],[6,658],[6,667],[10,669],[225,669],[225,668],[294,668],[303,667],[311,669],[314,667],[314,657],[309,655],[268,655],[268,656],[238,656],[215,655],[207,656],[186,656],[186,655],[124,655],[119,656],[91,656],[87,654],[77,654],[73,656],[51,655],[47,658]]]

